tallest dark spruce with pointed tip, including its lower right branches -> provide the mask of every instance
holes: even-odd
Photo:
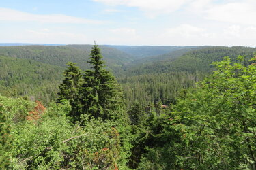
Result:
[[[104,61],[100,48],[95,44],[91,48],[91,57],[88,62],[92,70],[85,71],[81,86],[82,113],[94,118],[112,120],[113,126],[120,135],[120,165],[126,165],[130,156],[130,121],[124,109],[124,96],[115,77],[104,69]]]

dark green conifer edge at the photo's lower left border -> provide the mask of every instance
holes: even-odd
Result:
[[[0,169],[8,169],[10,165],[8,152],[12,148],[11,143],[10,126],[3,113],[3,106],[0,105]]]

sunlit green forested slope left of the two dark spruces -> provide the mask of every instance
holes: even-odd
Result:
[[[0,56],[0,94],[50,103],[62,80],[63,67]]]

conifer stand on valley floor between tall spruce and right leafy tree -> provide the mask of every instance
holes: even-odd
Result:
[[[165,105],[175,103],[181,89],[193,88],[195,82],[202,80],[202,73],[185,71],[132,75],[119,78],[124,89],[128,107],[135,101],[143,105],[161,101]]]

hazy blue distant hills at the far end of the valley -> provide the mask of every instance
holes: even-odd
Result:
[[[104,45],[111,48],[116,48],[122,52],[126,52],[135,58],[146,58],[148,56],[157,56],[162,54],[168,54],[176,50],[197,48],[196,46],[114,46]]]

